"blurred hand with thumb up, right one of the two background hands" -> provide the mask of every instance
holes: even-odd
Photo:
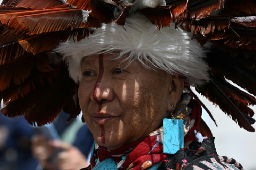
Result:
[[[88,167],[86,157],[77,147],[57,140],[51,141],[49,144],[54,148],[63,150],[57,156],[57,164],[60,170],[78,170]]]

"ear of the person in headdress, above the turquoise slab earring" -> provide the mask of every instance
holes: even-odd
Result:
[[[181,101],[181,95],[184,89],[184,79],[180,76],[172,75],[169,84],[169,96],[167,112],[171,112]]]

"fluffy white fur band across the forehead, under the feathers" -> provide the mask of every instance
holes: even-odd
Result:
[[[79,42],[62,43],[55,49],[61,52],[69,65],[70,76],[79,83],[80,62],[85,56],[120,51],[128,61],[139,60],[149,69],[160,68],[170,74],[184,75],[186,81],[200,84],[208,80],[208,66],[202,60],[205,51],[188,33],[170,27],[157,29],[142,14],[135,14],[120,26],[103,24],[101,28]],[[152,67],[153,66],[153,67]]]

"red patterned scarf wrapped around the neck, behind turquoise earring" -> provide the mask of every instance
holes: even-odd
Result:
[[[181,103],[172,113],[172,119],[183,119],[184,143],[196,139],[194,130],[201,120],[202,109],[197,100],[189,93],[183,93]],[[126,159],[122,161],[122,156]],[[119,169],[146,169],[164,160],[168,154],[163,153],[163,127],[160,127],[144,138],[130,143],[117,150],[108,150],[99,146],[91,159],[89,170],[96,165],[96,160],[103,161],[112,158],[117,164],[122,162]]]

